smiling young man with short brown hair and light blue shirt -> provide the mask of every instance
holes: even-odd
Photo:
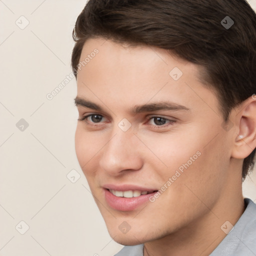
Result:
[[[89,0],[75,149],[118,256],[256,255],[256,15],[244,0]]]

